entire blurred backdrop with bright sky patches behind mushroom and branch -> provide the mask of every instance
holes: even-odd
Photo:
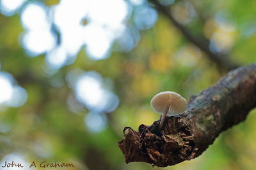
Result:
[[[162,169],[125,164],[124,127],[160,117],[158,92],[189,100],[230,63],[256,61],[253,0],[0,0],[0,12],[1,165]],[[165,169],[255,169],[255,129],[252,111],[200,157]]]

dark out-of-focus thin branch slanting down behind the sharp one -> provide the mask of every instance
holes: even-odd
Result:
[[[163,6],[157,0],[150,0],[150,3],[156,5],[156,8],[161,13],[163,13],[163,15],[165,15],[168,20],[175,27],[177,27],[177,29],[179,29],[180,32],[182,32],[184,37],[194,45],[198,46],[200,50],[205,52],[209,56],[209,59],[212,60],[212,62],[215,62],[218,67],[221,67],[228,71],[239,67],[239,64],[230,60],[227,55],[211,52],[211,50],[209,49],[210,42],[205,39],[204,36],[201,36],[200,38],[193,36],[193,34],[191,34],[191,32],[189,32],[188,29],[184,27],[184,25],[180,24],[177,20],[175,20],[175,18],[172,17],[172,15],[170,14],[170,9],[166,8],[166,6]]]

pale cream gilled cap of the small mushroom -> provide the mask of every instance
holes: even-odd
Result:
[[[186,99],[175,92],[160,92],[156,94],[150,101],[151,107],[157,113],[164,113],[166,107],[172,107],[172,110],[169,108],[168,115],[177,115],[186,110],[188,103]]]

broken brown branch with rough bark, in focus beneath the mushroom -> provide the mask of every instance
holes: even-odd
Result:
[[[218,83],[189,99],[188,109],[138,132],[124,128],[118,142],[125,162],[166,167],[201,155],[222,131],[242,122],[256,106],[256,63],[230,71]]]

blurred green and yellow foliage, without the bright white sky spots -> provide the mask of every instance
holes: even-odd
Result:
[[[58,4],[42,2],[47,6]],[[216,41],[221,43],[225,38],[230,59],[241,65],[255,62],[255,1],[176,1],[170,8],[182,3],[191,3],[198,13],[186,24],[191,32],[204,34],[207,39],[218,32],[221,36]],[[214,19],[216,13],[224,13],[221,24]],[[179,16],[186,17],[186,13]],[[108,59],[94,61],[82,49],[73,64],[52,76],[44,72],[44,55],[27,57],[20,47],[23,29],[19,15],[0,15],[0,27],[1,71],[11,73],[28,92],[24,106],[1,108],[0,127],[7,129],[0,134],[1,158],[20,152],[28,162],[73,162],[73,169],[152,169],[141,162],[125,164],[117,146],[123,138],[122,129],[138,129],[140,124],[150,125],[159,118],[150,108],[150,99],[158,92],[172,90],[189,99],[224,74],[161,13],[152,29],[141,31],[138,46],[131,52],[113,52]],[[101,132],[92,133],[86,127],[86,107],[74,113],[67,106],[74,92],[65,76],[75,68],[97,71],[113,81],[112,90],[120,104],[106,115],[108,125]],[[53,78],[63,81],[63,85],[53,87]],[[255,169],[255,129],[256,113],[252,111],[246,121],[223,132],[202,156],[166,169]]]

